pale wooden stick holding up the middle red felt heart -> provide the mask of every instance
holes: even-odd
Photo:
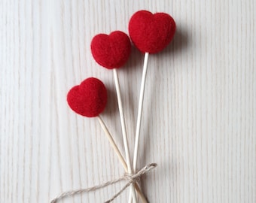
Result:
[[[121,99],[121,95],[120,95],[120,84],[119,84],[119,79],[118,79],[116,68],[113,69],[113,73],[114,73],[114,83],[115,83],[115,87],[117,90],[117,102],[118,102],[118,108],[119,108],[119,113],[120,113],[122,134],[123,134],[123,145],[124,145],[124,150],[125,150],[125,154],[126,154],[126,164],[127,164],[128,173],[132,174],[133,171],[132,171],[131,163],[130,163],[130,155],[129,155],[127,135],[126,135],[126,126],[125,126],[125,120],[124,120],[124,116],[123,116],[123,105],[122,105],[122,99]],[[133,184],[130,187],[130,192],[133,195],[134,203],[137,203],[136,192],[135,192]]]

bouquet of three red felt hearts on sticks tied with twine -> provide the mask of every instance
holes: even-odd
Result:
[[[117,144],[114,142],[114,138],[103,122],[102,117],[99,116],[99,114],[104,111],[108,98],[107,89],[105,88],[104,83],[102,83],[102,81],[97,78],[90,77],[84,80],[80,85],[74,86],[72,89],[70,89],[67,95],[67,102],[73,111],[75,111],[77,114],[81,114],[84,117],[96,117],[99,120],[99,124],[105,132],[111,147],[114,149],[114,152],[120,159],[126,174],[117,180],[109,181],[89,189],[78,189],[72,192],[62,193],[62,195],[59,195],[59,197],[55,198],[52,202],[56,202],[66,195],[89,192],[102,188],[103,186],[116,183],[120,180],[126,180],[126,185],[123,187],[123,189],[120,190],[120,192],[117,192],[116,195],[105,202],[114,200],[114,198],[116,198],[117,195],[120,195],[120,193],[123,192],[123,190],[125,190],[127,187],[130,187],[129,202],[133,201],[136,203],[139,200],[142,202],[148,202],[139,187],[139,178],[142,176],[142,174],[145,174],[145,172],[151,170],[151,168],[154,168],[156,164],[153,163],[146,165],[139,171],[136,168],[142,119],[142,106],[145,91],[145,79],[148,68],[148,56],[151,53],[160,52],[172,41],[172,38],[175,34],[175,21],[171,16],[169,16],[169,14],[151,14],[149,11],[137,11],[135,14],[133,14],[133,17],[130,18],[129,33],[130,38],[124,32],[120,31],[111,32],[110,35],[96,35],[93,38],[90,47],[93,58],[96,60],[96,62],[104,68],[112,70],[114,73],[114,84],[117,91],[117,103],[120,112],[120,124],[122,129],[123,146],[126,159],[123,158],[119,147],[117,147]],[[134,46],[145,54],[142,71],[142,84],[139,96],[133,165],[131,165],[130,162],[129,147],[126,135],[126,123],[123,117],[123,105],[117,74],[117,69],[122,67],[130,56],[130,39]]]

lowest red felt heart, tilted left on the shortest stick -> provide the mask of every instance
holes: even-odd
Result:
[[[89,77],[80,85],[72,87],[67,102],[73,111],[84,117],[97,117],[107,104],[107,89],[101,80]]]

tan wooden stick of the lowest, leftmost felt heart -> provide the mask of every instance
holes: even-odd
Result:
[[[99,120],[99,124],[102,127],[103,131],[105,132],[106,137],[108,138],[109,143],[111,144],[111,147],[113,148],[114,152],[117,154],[118,159],[120,160],[121,164],[123,165],[124,170],[126,173],[128,172],[127,165],[125,160],[123,159],[122,154],[120,153],[120,150],[117,147],[117,144],[114,142],[113,137],[111,136],[111,133],[108,130],[108,127],[105,125],[104,121],[102,120],[102,117],[97,117]],[[143,203],[148,203],[145,196],[143,195],[141,189],[139,188],[139,185],[137,183],[134,184],[135,189],[139,195],[139,198],[142,200]]]

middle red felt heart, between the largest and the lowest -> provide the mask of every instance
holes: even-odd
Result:
[[[130,38],[120,31],[110,35],[96,35],[90,48],[93,58],[105,68],[120,68],[129,59],[131,53]]]

